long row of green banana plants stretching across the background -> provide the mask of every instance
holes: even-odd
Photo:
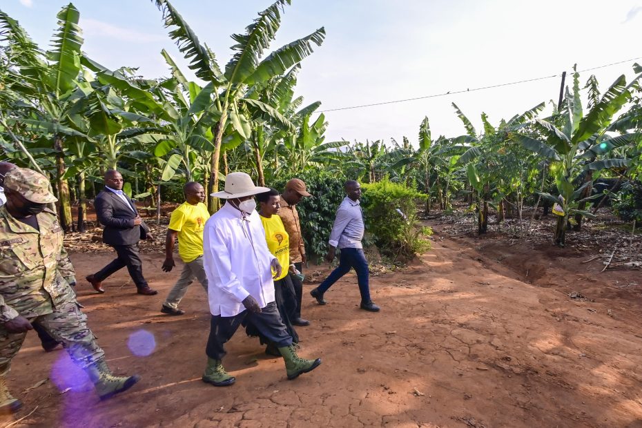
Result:
[[[190,81],[166,50],[159,55],[169,73],[161,79],[97,64],[82,51],[79,11],[71,3],[57,15],[48,51],[0,10],[0,160],[52,177],[66,230],[84,230],[86,200],[109,168],[124,175],[127,193],[157,208],[186,180],[217,191],[228,171],[251,173],[261,186],[295,175],[385,179],[429,195],[427,212],[434,204],[450,209],[454,197],[467,195],[479,233],[486,231],[489,205],[502,220],[505,208],[521,213],[525,201],[543,199],[556,204],[560,245],[568,224],[579,228],[592,216],[590,206],[601,196],[592,191],[595,180],[609,177],[628,184],[628,193],[611,196],[642,220],[638,64],[632,81],[622,75],[603,93],[594,76],[582,86],[575,72],[561,101],[551,101],[548,117],[541,117],[542,102],[496,125],[482,114],[483,130],[476,130],[453,104],[465,129],[461,136],[434,139],[425,118],[416,147],[406,137],[401,143],[325,142],[327,121],[315,113],[320,101],[306,105],[294,92],[301,62],[322,44],[324,29],[266,55],[290,0],[276,1],[245,32],[232,35],[233,57],[224,68],[169,1],[154,3],[199,82]],[[215,211],[217,200],[208,207]]]

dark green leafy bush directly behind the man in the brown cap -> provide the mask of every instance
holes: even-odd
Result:
[[[282,177],[268,186],[283,191],[286,182],[291,178],[302,179],[312,197],[304,197],[297,205],[301,220],[301,231],[309,260],[320,258],[327,253],[328,240],[334,223],[337,208],[345,191],[343,185],[346,177],[342,173],[328,172],[322,169],[311,169],[296,176]]]

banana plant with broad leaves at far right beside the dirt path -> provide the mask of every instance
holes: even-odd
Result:
[[[552,161],[559,197],[541,193],[543,197],[561,207],[561,215],[555,228],[554,242],[565,245],[567,223],[576,222],[574,215],[594,217],[590,212],[581,209],[580,205],[592,199],[586,190],[592,186],[592,173],[604,168],[626,167],[630,159],[607,157],[613,148],[632,144],[639,139],[639,134],[623,134],[613,137],[609,132],[615,130],[612,121],[616,113],[630,100],[634,88],[642,75],[637,75],[626,84],[624,75],[618,77],[608,90],[594,101],[584,114],[579,90],[579,74],[574,73],[572,93],[566,89],[565,110],[561,115],[562,128],[552,121],[537,119],[535,126],[545,139],[536,139],[523,133],[512,133],[515,142],[534,151],[541,157]],[[596,159],[600,157],[600,159]],[[578,177],[584,175],[587,180],[575,188]],[[589,192],[590,193],[590,192]]]

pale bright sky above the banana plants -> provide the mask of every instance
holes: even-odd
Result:
[[[18,19],[46,48],[57,28],[56,14],[67,1],[3,0],[0,8]],[[109,68],[139,67],[144,77],[168,75],[165,48],[189,71],[162,26],[161,12],[146,0],[77,0],[84,51]],[[213,49],[223,68],[232,51],[230,35],[244,32],[269,0],[174,0],[191,28]],[[416,142],[429,117],[434,137],[465,130],[452,102],[481,128],[541,101],[557,100],[560,78],[472,90],[525,79],[561,75],[642,57],[642,2],[634,0],[293,0],[286,7],[271,48],[325,27],[320,48],[302,63],[297,94],[320,110],[428,95],[443,97],[327,112],[326,141],[384,139]],[[637,59],[642,64],[642,59]],[[632,64],[584,72],[605,90]],[[570,79],[567,79],[570,83]]]

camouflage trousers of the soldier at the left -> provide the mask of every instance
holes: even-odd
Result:
[[[29,318],[39,324],[57,342],[61,342],[69,356],[81,369],[95,364],[105,357],[96,338],[87,327],[87,315],[81,312],[78,304],[71,300],[52,313]],[[9,333],[0,324],[0,376],[8,373],[11,360],[16,356],[27,333]]]

